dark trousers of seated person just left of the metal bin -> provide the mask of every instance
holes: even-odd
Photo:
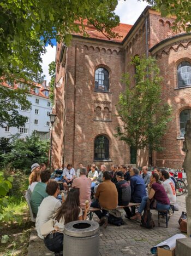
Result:
[[[51,251],[51,252],[62,252],[63,251],[63,238],[64,235],[59,232],[55,232],[53,234],[49,234],[44,238],[45,246]]]

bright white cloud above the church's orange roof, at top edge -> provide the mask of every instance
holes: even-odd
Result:
[[[115,13],[120,16],[121,23],[133,25],[147,5],[148,3],[142,0],[118,0]]]

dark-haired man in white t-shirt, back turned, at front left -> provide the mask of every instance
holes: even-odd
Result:
[[[46,186],[46,193],[49,195],[43,199],[41,202],[35,227],[38,233],[38,236],[41,239],[44,239],[44,236],[40,234],[40,226],[49,220],[53,213],[56,213],[57,209],[61,207],[61,201],[57,199],[59,195],[59,184],[54,179],[50,179]]]

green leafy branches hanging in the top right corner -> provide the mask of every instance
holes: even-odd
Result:
[[[140,0],[139,0],[140,1]],[[191,31],[191,2],[180,1],[180,0],[143,0],[147,3],[153,5],[153,8],[156,8],[161,12],[162,16],[176,16],[174,30],[183,29],[186,32]]]

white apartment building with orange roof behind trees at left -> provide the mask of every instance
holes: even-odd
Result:
[[[6,86],[21,88],[22,84],[14,84],[11,86],[9,83]],[[20,106],[19,113],[22,116],[26,116],[28,118],[25,123],[25,127],[0,127],[0,137],[8,137],[10,135],[14,135],[16,133],[20,134],[20,138],[24,138],[32,134],[35,130],[37,134],[39,134],[41,139],[50,138],[50,117],[49,114],[51,112],[51,101],[49,98],[49,87],[46,87],[45,81],[43,84],[37,84],[35,89],[31,90],[31,95],[28,96],[28,101],[31,101],[31,109],[25,109]]]

